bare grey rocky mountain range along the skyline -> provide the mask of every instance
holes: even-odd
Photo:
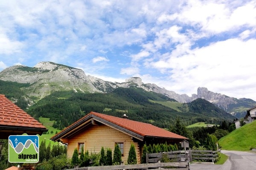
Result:
[[[22,91],[35,101],[52,94],[55,91],[75,91],[81,93],[110,93],[116,88],[142,88],[163,94],[177,102],[187,103],[202,98],[213,103],[224,111],[235,116],[242,117],[246,110],[256,105],[251,99],[236,99],[223,94],[208,91],[207,88],[198,88],[197,94],[189,97],[187,94],[177,94],[168,91],[155,84],[143,83],[139,77],[131,77],[125,82],[108,82],[90,75],[86,75],[81,69],[53,62],[39,62],[33,68],[24,65],[15,65],[0,72],[0,80],[19,82],[26,86]]]

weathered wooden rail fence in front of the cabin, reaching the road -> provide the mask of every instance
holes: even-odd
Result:
[[[79,167],[70,170],[173,170],[172,168],[178,168],[178,170],[190,170],[189,161],[216,161],[221,150],[180,150],[164,153],[147,153],[146,164],[132,164],[132,165],[111,165],[111,166],[99,166],[99,167]],[[171,162],[160,162],[163,157],[168,158]]]

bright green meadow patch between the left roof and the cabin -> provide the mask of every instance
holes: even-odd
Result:
[[[48,146],[49,143],[51,143],[51,146],[53,144],[58,144],[58,142],[53,142],[52,140],[50,140],[50,138],[55,135],[56,131],[57,132],[61,131],[52,127],[54,121],[50,121],[49,118],[44,118],[44,117],[40,117],[39,120],[49,131],[49,134],[42,134],[41,136],[39,136],[39,142],[41,143],[45,139],[46,146]],[[50,133],[51,131],[53,131],[52,134]]]

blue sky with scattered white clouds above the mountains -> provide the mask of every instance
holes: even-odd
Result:
[[[0,71],[50,61],[256,101],[255,0],[0,0]]]

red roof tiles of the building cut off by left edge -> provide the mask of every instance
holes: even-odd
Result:
[[[3,94],[0,94],[0,125],[46,129]]]

